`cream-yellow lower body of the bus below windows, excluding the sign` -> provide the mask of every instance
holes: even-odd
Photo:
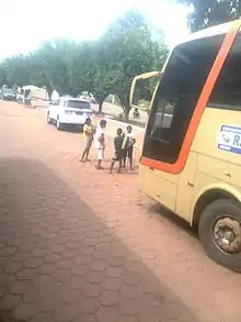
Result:
[[[241,201],[241,157],[217,147],[222,120],[239,127],[240,114],[206,108],[184,169],[172,175],[140,165],[141,189],[191,224],[195,204],[207,191],[219,189]]]

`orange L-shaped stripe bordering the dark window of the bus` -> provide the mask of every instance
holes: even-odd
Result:
[[[181,152],[180,152],[180,155],[179,155],[176,163],[168,164],[168,163],[162,163],[162,162],[142,156],[140,158],[141,165],[148,166],[148,167],[157,169],[157,170],[170,173],[173,175],[177,175],[183,170],[183,168],[185,167],[185,164],[186,164],[186,159],[188,157],[188,153],[190,153],[194,136],[196,134],[198,124],[200,122],[203,112],[204,112],[205,107],[208,102],[209,96],[213,91],[213,88],[214,88],[215,82],[218,78],[218,75],[219,75],[219,73],[225,64],[225,60],[226,60],[226,58],[232,47],[232,44],[233,44],[236,36],[237,36],[237,33],[239,32],[240,24],[241,23],[232,25],[232,27],[227,33],[227,35],[222,42],[220,51],[215,59],[215,63],[211,67],[211,70],[208,75],[206,84],[205,84],[203,91],[199,96],[199,99],[197,101],[195,111],[193,113],[188,129],[186,131],[186,135],[185,135],[185,138],[184,138],[184,142],[183,142],[183,145],[182,145],[182,148],[181,148]]]

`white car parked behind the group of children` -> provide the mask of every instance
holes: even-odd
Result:
[[[87,118],[93,118],[90,102],[84,99],[59,98],[49,104],[47,122],[55,123],[58,130],[65,125],[82,126]]]

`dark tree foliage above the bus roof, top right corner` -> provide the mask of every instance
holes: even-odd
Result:
[[[241,15],[240,0],[181,0],[193,7],[190,15],[191,31],[228,22]]]

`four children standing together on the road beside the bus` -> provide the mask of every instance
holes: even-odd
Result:
[[[91,119],[88,118],[83,126],[84,148],[80,162],[90,160],[89,153],[91,145],[94,141],[94,145],[97,149],[97,164],[95,166],[96,169],[103,169],[102,160],[104,159],[105,151],[104,130],[106,127],[106,124],[107,122],[105,120],[101,120],[100,125],[96,127],[96,131],[94,133],[94,129],[91,124]],[[126,130],[126,133],[120,127],[116,131],[116,136],[114,138],[114,156],[111,162],[110,174],[112,174],[116,162],[118,163],[117,173],[120,173],[122,168],[126,166],[127,158],[129,159],[129,167],[133,170],[133,152],[136,140],[133,134],[133,127],[128,125]]]

